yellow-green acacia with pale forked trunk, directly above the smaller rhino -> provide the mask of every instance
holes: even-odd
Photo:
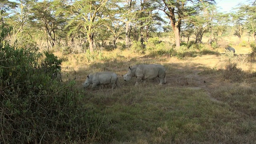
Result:
[[[90,51],[93,51],[93,40],[98,27],[104,22],[103,12],[109,0],[80,0],[75,1],[67,11],[71,20],[68,26],[76,23],[75,29],[86,35]]]

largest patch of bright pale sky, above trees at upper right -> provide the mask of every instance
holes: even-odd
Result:
[[[238,7],[239,3],[241,4],[249,4],[248,0],[215,0],[216,6],[218,6],[218,10],[220,12],[230,12],[232,8]]]

